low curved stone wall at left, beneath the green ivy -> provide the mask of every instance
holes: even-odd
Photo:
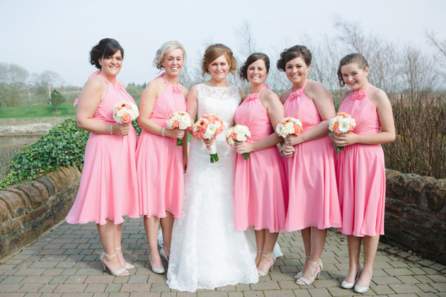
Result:
[[[63,221],[80,180],[79,169],[61,167],[56,173],[0,190],[0,259]]]

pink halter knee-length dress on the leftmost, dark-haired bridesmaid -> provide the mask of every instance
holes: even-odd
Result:
[[[107,81],[101,71],[96,71],[88,78],[96,74],[101,74],[105,79],[108,90],[93,119],[116,124],[113,120],[115,103],[120,100],[135,103],[135,100],[118,81]],[[67,215],[68,223],[95,222],[103,225],[105,219],[109,219],[119,224],[124,221],[122,216],[139,218],[136,147],[137,134],[132,126],[126,136],[90,132],[81,184]]]

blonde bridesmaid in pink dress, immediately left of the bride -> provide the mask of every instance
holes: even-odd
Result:
[[[167,129],[166,120],[176,111],[185,111],[188,89],[178,83],[185,51],[178,41],[168,41],[156,52],[154,65],[164,69],[141,95],[138,124],[144,129],[137,146],[139,211],[149,243],[149,261],[155,273],[163,274],[159,255],[166,260],[171,252],[173,219],[183,208],[183,173],[187,165],[188,139],[185,130]],[[176,140],[183,138],[183,146]],[[161,218],[164,247],[158,251]]]

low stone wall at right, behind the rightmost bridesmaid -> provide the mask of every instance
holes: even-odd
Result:
[[[382,241],[446,264],[446,180],[386,170]]]

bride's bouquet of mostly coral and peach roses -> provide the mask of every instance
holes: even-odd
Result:
[[[193,136],[201,139],[212,139],[224,130],[223,121],[217,115],[203,115],[193,125]],[[210,147],[210,161],[218,161],[217,147],[215,143]]]

